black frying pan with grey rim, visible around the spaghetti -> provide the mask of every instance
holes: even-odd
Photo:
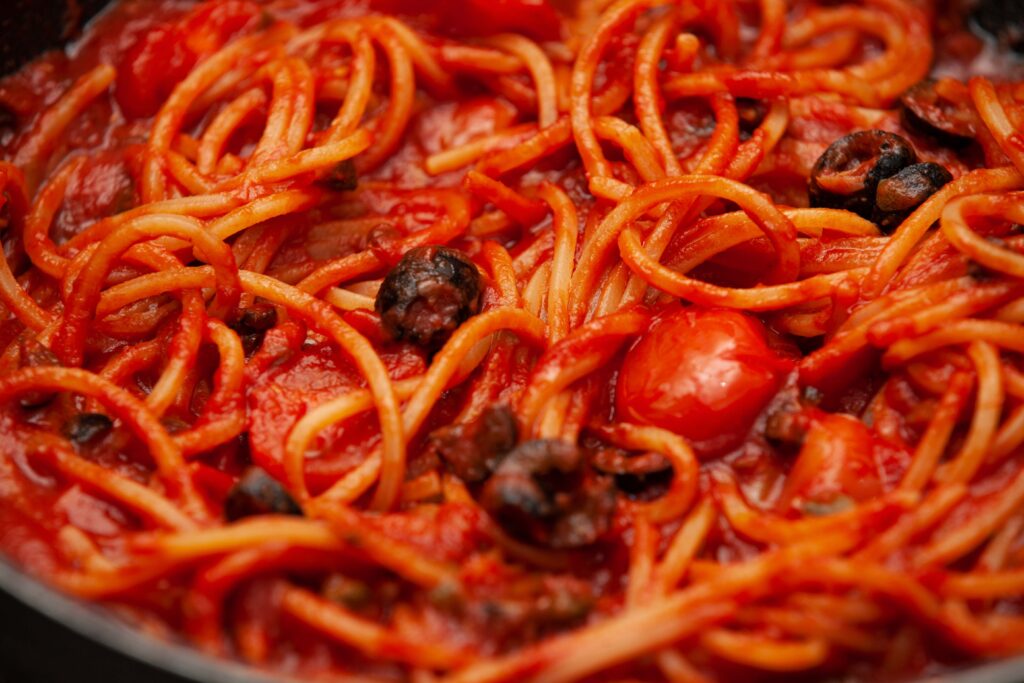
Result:
[[[109,0],[0,0],[0,74],[74,38]],[[288,683],[133,630],[0,557],[0,683]],[[922,679],[1024,683],[1024,657]]]

